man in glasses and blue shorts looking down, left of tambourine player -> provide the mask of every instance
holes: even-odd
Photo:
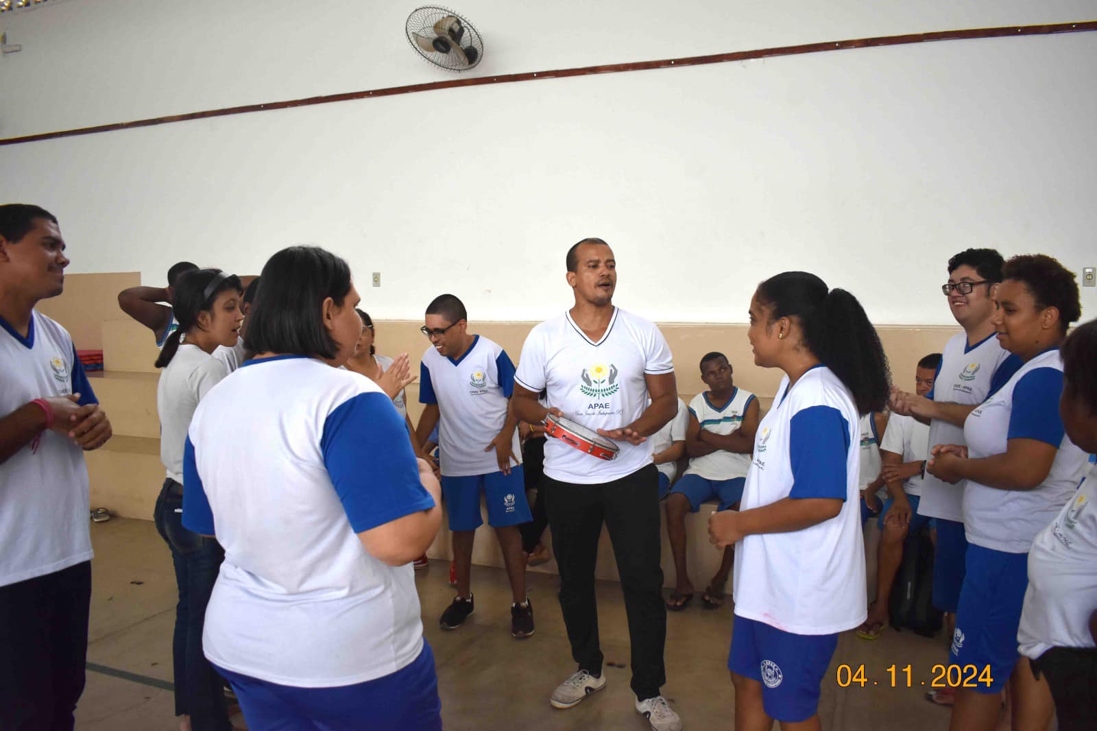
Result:
[[[518,526],[529,522],[518,419],[510,408],[514,364],[498,345],[468,333],[461,300],[441,294],[427,307],[419,330],[431,347],[419,370],[419,401],[426,404],[416,435],[425,443],[439,426],[442,496],[453,532],[457,596],[442,612],[442,629],[461,627],[473,614],[473,539],[483,525],[480,494],[495,528],[513,594],[510,633],[533,634],[533,606],[525,596],[525,556]]]

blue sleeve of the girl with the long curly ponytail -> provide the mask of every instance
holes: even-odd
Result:
[[[849,424],[833,406],[810,406],[789,424],[789,497],[833,497],[845,501]]]

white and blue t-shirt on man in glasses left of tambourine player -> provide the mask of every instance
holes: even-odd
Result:
[[[495,450],[484,451],[499,436],[514,393],[514,364],[499,345],[477,335],[459,360],[427,348],[419,366],[419,402],[438,404],[441,464],[446,477],[499,471]],[[521,462],[518,429],[511,449]],[[512,465],[513,466],[513,465]]]

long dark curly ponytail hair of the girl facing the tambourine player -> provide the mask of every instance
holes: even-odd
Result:
[[[877,329],[846,290],[830,290],[805,271],[787,271],[758,285],[758,302],[770,322],[795,317],[804,345],[849,389],[859,414],[882,412],[891,390],[891,369]]]

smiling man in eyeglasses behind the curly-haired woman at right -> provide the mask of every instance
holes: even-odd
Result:
[[[1020,360],[998,344],[991,322],[995,310],[992,295],[1002,281],[1003,263],[1002,255],[994,249],[966,249],[949,259],[949,281],[941,290],[964,331],[946,344],[928,394],[918,396],[897,389],[892,392],[892,411],[929,425],[930,450],[935,445],[966,443],[963,425],[968,414],[1020,367]],[[962,481],[951,485],[926,473],[918,515],[932,518],[937,528],[934,606],[948,612],[950,632],[954,631],[968,552],[962,501]],[[951,704],[951,693],[935,691],[931,699]]]

